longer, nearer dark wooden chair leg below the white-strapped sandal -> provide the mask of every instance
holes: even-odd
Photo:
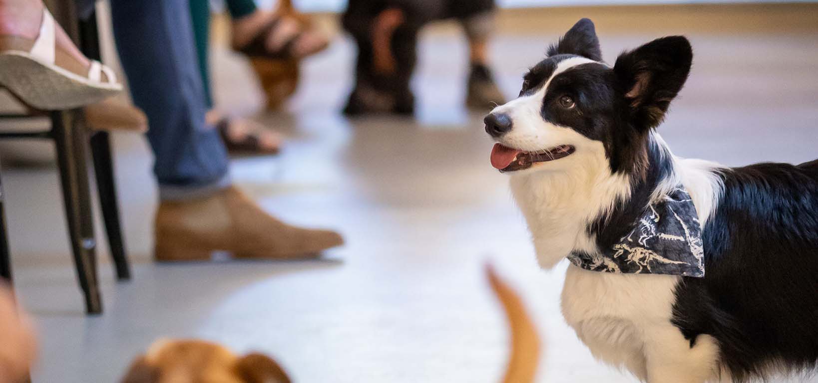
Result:
[[[102,303],[95,255],[97,243],[94,240],[86,164],[88,134],[79,123],[79,113],[76,110],[52,112],[52,133],[65,199],[65,218],[68,220],[79,286],[85,295],[85,309],[88,314],[100,314]]]

